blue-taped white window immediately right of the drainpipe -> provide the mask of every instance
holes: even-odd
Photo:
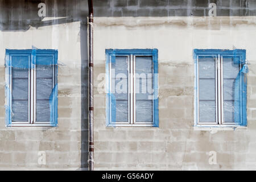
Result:
[[[106,50],[106,125],[158,127],[158,50]]]

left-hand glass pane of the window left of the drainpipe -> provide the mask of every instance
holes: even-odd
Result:
[[[11,56],[12,122],[28,122],[28,61],[30,56]]]

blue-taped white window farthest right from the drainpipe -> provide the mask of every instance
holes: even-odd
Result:
[[[246,51],[195,49],[195,125],[246,126]]]

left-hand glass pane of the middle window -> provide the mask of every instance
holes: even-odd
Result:
[[[111,70],[111,92],[114,95],[115,122],[128,121],[128,57],[115,56]]]

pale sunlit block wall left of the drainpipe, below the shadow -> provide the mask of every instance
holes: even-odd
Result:
[[[80,22],[74,22],[0,32],[0,169],[81,169],[82,155],[87,152],[87,130],[86,114],[81,114],[85,93],[81,94],[80,26]],[[5,49],[32,46],[58,50],[59,125],[5,127]],[[38,163],[41,152],[46,154],[46,164]],[[83,160],[86,163],[86,158]]]

